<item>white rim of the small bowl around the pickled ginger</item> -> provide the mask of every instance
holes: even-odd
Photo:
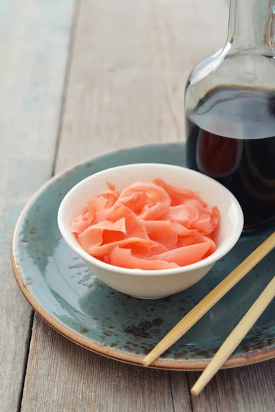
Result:
[[[121,268],[119,266],[113,266],[111,264],[107,264],[89,255],[89,253],[87,253],[80,246],[80,244],[72,242],[72,239],[71,239],[72,233],[69,231],[69,227],[67,227],[67,225],[65,225],[65,222],[64,222],[64,214],[65,214],[64,212],[65,212],[66,203],[69,200],[69,198],[72,198],[72,196],[74,196],[74,192],[76,192],[76,190],[79,187],[86,185],[87,183],[90,183],[90,181],[93,181],[95,176],[99,176],[99,175],[104,176],[106,172],[111,172],[112,170],[135,169],[139,167],[142,167],[142,168],[146,168],[146,167],[152,168],[153,167],[156,169],[166,168],[166,169],[174,169],[174,170],[176,169],[176,170],[179,170],[187,174],[195,174],[199,176],[200,179],[210,182],[211,185],[219,187],[219,190],[222,190],[223,192],[227,193],[231,198],[230,200],[232,204],[236,205],[236,209],[238,211],[238,222],[237,222],[236,227],[234,227],[234,231],[232,233],[230,241],[226,244],[226,246],[220,249],[218,247],[217,250],[214,251],[214,253],[212,253],[212,255],[208,256],[208,258],[203,259],[197,263],[187,265],[187,266],[181,266],[179,268],[170,268],[170,269],[159,269],[159,270],[143,270],[143,269]],[[115,166],[113,168],[101,170],[100,172],[91,174],[90,176],[86,177],[85,179],[83,179],[82,181],[74,185],[74,187],[72,187],[69,190],[69,192],[67,192],[67,194],[61,201],[61,205],[58,208],[57,222],[58,222],[58,228],[61,232],[61,236],[63,237],[65,242],[75,253],[77,253],[86,262],[89,262],[90,264],[94,266],[98,266],[98,268],[104,269],[106,271],[110,271],[114,273],[121,273],[124,275],[159,276],[159,275],[175,275],[177,273],[187,273],[190,271],[195,271],[199,268],[203,268],[210,264],[214,264],[215,262],[217,262],[217,260],[223,258],[223,256],[226,255],[232,249],[232,247],[234,247],[236,242],[239,240],[239,237],[241,236],[241,232],[243,230],[243,211],[241,209],[241,205],[239,204],[239,201],[236,200],[236,197],[230,192],[230,190],[228,190],[226,187],[221,185],[221,183],[215,181],[214,179],[212,179],[212,177],[207,176],[206,174],[202,174],[200,172],[197,172],[195,170],[191,170],[188,168],[184,168],[182,166],[170,165],[166,163],[132,163],[129,165],[120,165],[120,166]]]

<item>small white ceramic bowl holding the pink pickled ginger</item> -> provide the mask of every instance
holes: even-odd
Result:
[[[162,271],[142,271],[111,266],[85,252],[69,230],[72,220],[82,210],[85,200],[106,188],[106,182],[115,184],[119,191],[137,181],[164,179],[170,185],[199,192],[210,207],[217,205],[221,214],[217,231],[217,250],[208,258],[182,268]],[[84,179],[63,199],[58,211],[58,227],[65,242],[75,251],[105,284],[127,295],[143,299],[157,299],[173,295],[199,281],[236,243],[243,229],[243,212],[236,198],[208,176],[174,165],[138,163],[103,170]]]

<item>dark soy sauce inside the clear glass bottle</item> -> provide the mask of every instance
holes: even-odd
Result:
[[[217,87],[188,115],[188,167],[228,187],[241,204],[245,229],[273,221],[275,90]]]

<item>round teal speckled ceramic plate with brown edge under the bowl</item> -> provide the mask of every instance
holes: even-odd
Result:
[[[89,350],[141,365],[142,358],[195,304],[251,253],[269,232],[243,237],[199,283],[153,301],[112,290],[91,273],[61,238],[56,216],[63,196],[90,174],[137,163],[184,165],[184,145],[120,150],[54,177],[23,210],[12,241],[17,282],[34,310],[54,329]],[[270,231],[271,232],[271,231]],[[274,275],[275,251],[186,333],[153,367],[203,369]],[[265,310],[225,367],[275,356],[275,300]]]

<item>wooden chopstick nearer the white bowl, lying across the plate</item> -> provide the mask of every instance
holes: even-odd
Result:
[[[257,263],[262,260],[267,253],[275,247],[275,232],[265,240],[251,255],[248,256],[234,271],[230,273],[223,281],[216,286],[206,297],[204,297],[195,308],[192,308],[186,316],[175,325],[175,327],[164,336],[154,349],[143,359],[144,366],[150,365],[159,355],[163,354],[173,343],[183,336],[201,317],[206,314],[214,304],[221,299],[225,293],[228,293],[236,283],[251,271]]]

